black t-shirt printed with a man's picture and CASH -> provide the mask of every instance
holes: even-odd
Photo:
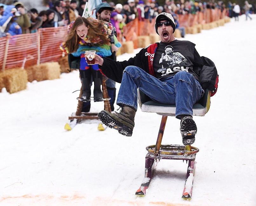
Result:
[[[199,80],[198,75],[193,71],[197,59],[201,62],[195,44],[192,42],[179,40],[170,43],[160,42],[153,61],[155,76],[163,80],[179,71],[186,71]]]

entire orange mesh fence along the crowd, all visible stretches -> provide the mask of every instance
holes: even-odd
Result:
[[[197,14],[179,15],[180,26],[190,27],[197,23],[210,23],[226,16],[226,9],[207,9]],[[155,33],[155,19],[134,19],[123,28],[126,41],[133,41],[138,48],[138,36]],[[38,29],[37,33],[0,38],[0,67],[2,70],[29,67],[39,63],[58,61],[62,55],[60,45],[67,35],[66,27]],[[119,41],[121,37],[118,37]]]

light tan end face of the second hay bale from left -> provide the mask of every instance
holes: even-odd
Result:
[[[44,73],[44,80],[60,78],[60,65],[58,62],[47,62],[38,65]]]

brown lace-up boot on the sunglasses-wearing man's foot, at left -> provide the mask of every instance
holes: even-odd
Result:
[[[109,113],[102,110],[98,113],[98,117],[104,125],[118,130],[122,135],[131,137],[135,113],[136,109],[134,107],[124,105],[120,113]]]

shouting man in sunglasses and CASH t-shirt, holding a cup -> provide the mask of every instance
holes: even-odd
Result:
[[[180,132],[184,145],[195,141],[197,126],[192,119],[192,106],[209,88],[217,90],[217,70],[214,63],[200,57],[195,44],[174,38],[175,23],[169,13],[156,17],[155,29],[161,41],[143,48],[128,61],[113,61],[95,56],[95,63],[112,80],[121,83],[117,105],[120,113],[105,110],[98,113],[99,119],[110,128],[125,136],[131,136],[137,111],[138,88],[152,100],[162,104],[176,104],[175,116],[181,119]]]

